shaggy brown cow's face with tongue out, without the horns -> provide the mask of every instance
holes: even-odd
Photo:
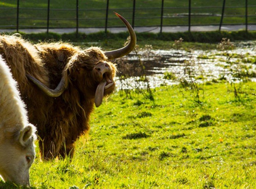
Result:
[[[113,92],[115,75],[116,66],[108,61],[105,53],[98,47],[91,47],[70,58],[63,78],[67,78],[67,83],[72,83],[87,99],[95,99],[98,107],[103,96]]]

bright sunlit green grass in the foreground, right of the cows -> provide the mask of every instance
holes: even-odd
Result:
[[[255,89],[255,82],[243,90]],[[197,105],[178,86],[154,90],[155,101],[114,93],[91,116],[89,138],[74,159],[31,167],[33,188],[255,188],[256,98],[240,101],[229,85],[204,86]],[[7,188],[10,184],[0,183]],[[74,187],[75,188],[75,187]]]

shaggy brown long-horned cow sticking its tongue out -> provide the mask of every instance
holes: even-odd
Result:
[[[108,60],[127,55],[136,44],[131,25],[116,15],[127,26],[131,40],[113,51],[82,50],[62,42],[32,45],[18,36],[0,35],[0,54],[18,81],[30,122],[41,138],[41,158],[72,157],[75,141],[90,129],[94,103],[98,107],[113,92],[116,67]]]

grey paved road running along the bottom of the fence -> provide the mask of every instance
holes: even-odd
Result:
[[[219,26],[191,26],[191,31],[215,31],[219,30]],[[245,25],[225,25],[221,27],[221,30],[226,31],[237,31],[237,30],[245,30]],[[256,24],[248,25],[248,30],[256,30]],[[0,32],[15,32],[16,30],[4,30],[0,29]],[[46,29],[20,29],[20,32],[25,33],[41,33],[46,32]],[[49,29],[49,32],[54,33],[72,33],[75,32],[75,28],[61,28],[61,29]],[[98,31],[105,31],[105,28],[79,28],[79,32],[81,33],[95,33]],[[112,33],[118,33],[127,31],[125,27],[113,27],[108,28],[108,31]],[[159,33],[160,27],[135,27],[136,32],[153,32]],[[188,31],[188,26],[165,26],[162,28],[163,32],[184,32]]]

